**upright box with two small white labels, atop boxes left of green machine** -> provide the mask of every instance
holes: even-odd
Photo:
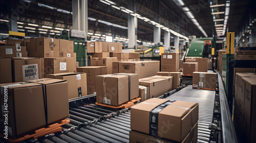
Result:
[[[161,71],[179,71],[179,53],[162,53]]]

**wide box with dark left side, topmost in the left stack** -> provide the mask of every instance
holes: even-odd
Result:
[[[30,38],[27,43],[29,57],[57,58],[59,57],[59,39],[55,38]]]

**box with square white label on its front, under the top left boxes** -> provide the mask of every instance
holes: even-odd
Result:
[[[45,77],[47,74],[74,72],[74,58],[45,58]]]

